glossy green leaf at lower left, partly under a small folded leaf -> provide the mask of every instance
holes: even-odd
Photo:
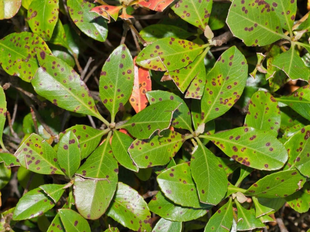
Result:
[[[13,220],[38,217],[54,206],[53,200],[42,189],[35,188],[20,198],[14,209]]]

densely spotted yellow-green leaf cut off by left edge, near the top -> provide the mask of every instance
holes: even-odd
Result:
[[[3,70],[30,82],[39,68],[35,48],[44,49],[51,54],[42,38],[30,32],[11,33],[1,39],[0,63]]]

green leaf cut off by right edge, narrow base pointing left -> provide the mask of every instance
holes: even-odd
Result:
[[[285,103],[298,114],[310,120],[310,85],[305,85],[287,97],[278,98],[277,101]]]

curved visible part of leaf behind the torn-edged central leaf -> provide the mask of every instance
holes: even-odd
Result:
[[[175,95],[174,93],[162,90],[148,91],[146,93],[146,97],[148,98],[150,105],[166,100],[178,101],[179,103],[182,103],[172,115],[171,126],[192,131],[190,112],[182,98]]]

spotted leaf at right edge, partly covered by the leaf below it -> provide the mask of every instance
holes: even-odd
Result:
[[[304,150],[304,146],[310,137],[310,125],[303,127],[292,135],[289,140],[284,144],[287,153],[289,154],[289,159],[284,167],[284,170],[294,168],[294,163],[297,161],[297,157],[302,151],[307,152],[307,149]],[[303,163],[301,163],[303,164]]]

